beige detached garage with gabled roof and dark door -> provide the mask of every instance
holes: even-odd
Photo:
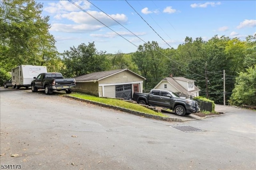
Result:
[[[131,100],[134,92],[142,92],[144,77],[128,69],[100,71],[74,77],[74,91],[98,97],[124,98]]]

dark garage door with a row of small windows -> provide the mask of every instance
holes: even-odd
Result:
[[[132,99],[132,85],[116,85],[116,98]]]

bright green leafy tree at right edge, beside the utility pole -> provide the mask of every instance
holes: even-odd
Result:
[[[231,105],[256,106],[256,65],[240,72],[229,100]]]

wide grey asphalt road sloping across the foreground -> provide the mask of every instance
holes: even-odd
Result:
[[[1,169],[255,170],[256,112],[224,110],[220,117],[166,122],[1,87]]]

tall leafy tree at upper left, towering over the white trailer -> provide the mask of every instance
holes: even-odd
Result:
[[[6,71],[17,65],[61,65],[55,40],[48,32],[49,16],[42,17],[42,4],[34,0],[1,0],[0,66]],[[53,66],[53,62],[56,64]]]

